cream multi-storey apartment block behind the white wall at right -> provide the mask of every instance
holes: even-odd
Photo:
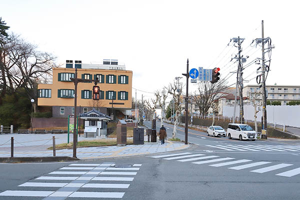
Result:
[[[267,100],[281,101],[281,105],[286,105],[288,101],[300,100],[300,85],[265,85],[267,90]],[[257,100],[262,100],[261,88],[251,84],[243,88],[243,96],[258,93]]]

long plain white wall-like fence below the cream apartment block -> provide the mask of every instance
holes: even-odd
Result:
[[[233,106],[224,106],[222,115],[233,117],[233,111]],[[261,120],[261,115],[262,110],[259,110],[257,121]],[[235,116],[239,116],[239,106],[236,106]],[[267,105],[266,116],[268,123],[300,127],[300,105]],[[244,106],[244,118],[254,120],[254,107],[252,105]]]

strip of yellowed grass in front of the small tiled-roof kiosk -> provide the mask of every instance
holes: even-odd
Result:
[[[126,144],[133,144],[132,139],[127,139]],[[77,147],[92,147],[92,146],[114,146],[116,145],[116,139],[95,139],[95,140],[82,140],[77,142]],[[55,145],[55,149],[72,148],[73,142],[61,143]],[[48,147],[47,149],[53,149]]]

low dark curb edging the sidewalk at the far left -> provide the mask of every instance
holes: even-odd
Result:
[[[69,161],[80,160],[78,158],[69,156],[45,156],[45,157],[0,157],[2,163],[15,163],[15,162],[53,162],[53,161]]]

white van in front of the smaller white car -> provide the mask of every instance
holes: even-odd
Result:
[[[229,139],[237,138],[239,140],[243,139],[257,139],[256,132],[248,124],[241,123],[229,123],[227,128],[227,136]]]

